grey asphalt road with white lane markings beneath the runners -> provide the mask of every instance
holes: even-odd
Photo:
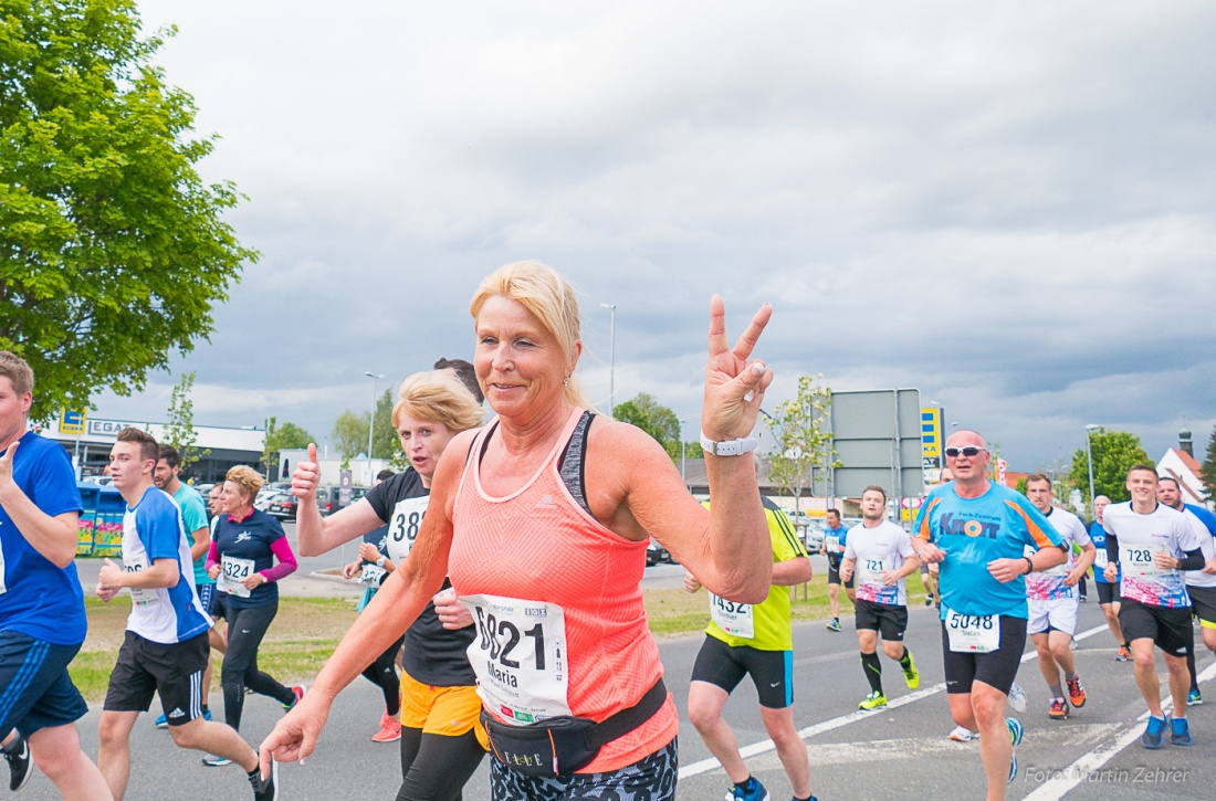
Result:
[[[348,592],[334,582],[308,576],[313,570],[332,566],[330,563],[340,564],[340,554],[304,560],[302,575],[285,581],[283,591]],[[85,583],[90,581],[89,570],[89,563],[84,562]],[[648,586],[674,586],[681,571],[658,566],[647,574]],[[953,743],[946,737],[953,722],[942,686],[936,616],[923,607],[911,611],[907,643],[921,667],[921,688],[908,690],[897,666],[884,658],[884,688],[890,706],[878,712],[863,713],[856,707],[868,688],[857,660],[851,621],[846,621],[843,633],[826,631],[822,621],[794,627],[794,720],[806,741],[812,789],[820,799],[890,801],[984,795],[976,745]],[[1081,607],[1079,632],[1077,667],[1090,700],[1070,720],[1047,720],[1046,687],[1032,650],[1024,660],[1019,681],[1030,695],[1030,707],[1020,716],[1026,728],[1025,741],[1018,749],[1021,771],[1008,797],[1164,801],[1216,796],[1216,703],[1192,707],[1193,748],[1142,749],[1136,738],[1143,727],[1144,705],[1131,665],[1113,661],[1114,643],[1094,603]],[[688,676],[700,641],[698,634],[660,643],[666,682],[683,717],[679,797],[688,800],[721,799],[728,786],[685,715]],[[1216,675],[1212,655],[1203,651],[1199,667],[1201,687],[1216,701],[1216,689],[1210,689],[1211,676]],[[1160,659],[1159,670],[1164,687]],[[359,679],[348,688],[334,704],[321,746],[308,765],[282,766],[282,797],[317,801],[353,794],[394,797],[400,782],[398,750],[393,744],[381,745],[368,739],[381,711],[379,693],[371,683]],[[91,755],[97,750],[98,715],[100,704],[80,722],[81,740]],[[250,696],[242,733],[257,743],[281,715],[274,701]],[[775,800],[789,797],[788,780],[771,744],[766,744],[749,682],[736,692],[726,715],[745,746],[753,774],[767,785]],[[133,760],[129,799],[248,797],[248,785],[238,768],[203,767],[198,755],[175,749],[165,732],[154,729],[151,715],[136,727]],[[489,799],[488,774],[489,767],[483,762],[467,785],[465,799]],[[40,774],[21,796],[57,797]]]

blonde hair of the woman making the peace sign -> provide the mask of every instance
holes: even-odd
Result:
[[[483,278],[473,293],[468,310],[474,321],[485,301],[495,295],[523,305],[557,338],[565,361],[574,357],[579,342],[579,301],[574,297],[574,288],[557,270],[540,261],[512,261],[502,265]],[[565,382],[565,400],[572,406],[595,408],[579,389],[574,376]]]

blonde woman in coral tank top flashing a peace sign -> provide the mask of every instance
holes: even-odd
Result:
[[[640,582],[653,536],[717,596],[767,597],[772,552],[751,459],[772,372],[751,359],[766,304],[733,348],[710,301],[702,440],[711,511],[662,446],[584,410],[574,290],[505,265],[471,304],[474,366],[497,418],[452,440],[409,559],[343,638],[261,754],[306,757],[337,693],[413,621],[445,575],[472,610],[495,799],[675,797],[679,718]],[[579,732],[569,737],[569,731]],[[582,748],[574,744],[591,743]]]

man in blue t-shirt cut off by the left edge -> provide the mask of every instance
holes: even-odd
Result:
[[[27,431],[34,371],[0,351],[0,752],[9,788],[29,780],[30,752],[63,797],[108,799],[80,750],[89,711],[68,677],[88,627],[75,558],[80,493],[67,452]]]

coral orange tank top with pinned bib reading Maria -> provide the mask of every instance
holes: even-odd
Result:
[[[603,721],[663,675],[642,605],[647,542],[601,525],[562,478],[579,476],[581,492],[590,419],[575,408],[536,474],[501,498],[480,483],[497,422],[486,425],[457,490],[447,571],[477,621],[468,653],[478,694],[507,723],[554,715]],[[679,723],[669,693],[649,721],[607,744],[580,773],[637,762],[670,743]]]

